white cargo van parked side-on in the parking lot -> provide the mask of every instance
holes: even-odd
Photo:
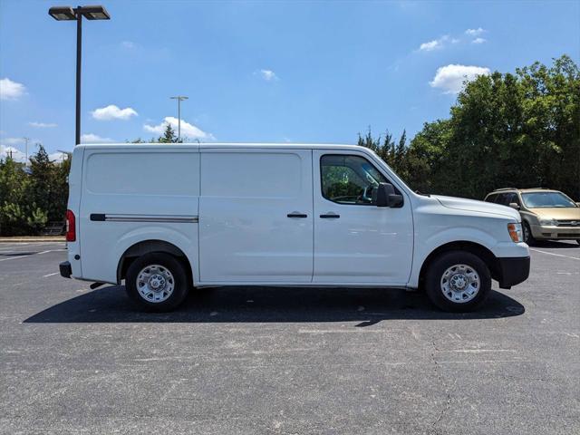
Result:
[[[424,288],[469,311],[527,279],[512,208],[419,195],[345,145],[107,144],[73,152],[61,275],[153,311],[216,285]]]

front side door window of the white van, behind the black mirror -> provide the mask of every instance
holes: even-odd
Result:
[[[346,154],[322,156],[320,178],[324,198],[350,205],[374,204],[379,183],[388,182],[369,160]]]

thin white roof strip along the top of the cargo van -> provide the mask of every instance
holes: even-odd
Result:
[[[75,148],[94,149],[135,149],[135,148],[169,148],[169,149],[190,149],[197,148],[201,150],[210,149],[298,149],[298,150],[369,150],[359,145],[345,145],[332,143],[84,143],[77,145]]]

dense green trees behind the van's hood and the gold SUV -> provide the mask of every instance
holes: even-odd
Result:
[[[580,72],[568,56],[478,76],[448,120],[426,122],[408,147],[359,135],[413,189],[483,198],[501,187],[549,187],[580,198]],[[404,143],[403,143],[404,145]]]

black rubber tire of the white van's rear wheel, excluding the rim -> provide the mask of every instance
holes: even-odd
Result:
[[[167,269],[173,278],[172,281],[168,280],[168,282],[173,285],[172,293],[165,300],[160,302],[152,302],[151,300],[147,300],[144,296],[141,296],[137,284],[140,272],[145,267],[153,265],[159,265]],[[139,305],[142,310],[164,313],[174,310],[183,302],[186,295],[188,295],[188,275],[183,264],[176,257],[162,252],[151,252],[150,254],[140,256],[131,263],[125,278],[125,288],[127,290],[127,295],[129,295],[131,300]]]

